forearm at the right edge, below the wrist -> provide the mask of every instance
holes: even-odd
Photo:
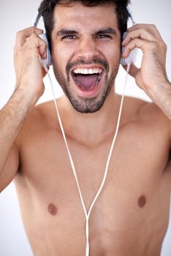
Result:
[[[148,96],[171,121],[171,83],[167,81],[156,86],[156,89],[148,89]]]

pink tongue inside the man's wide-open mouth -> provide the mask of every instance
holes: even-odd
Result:
[[[96,80],[98,75],[76,75],[75,80],[77,85],[80,86],[81,89],[86,91],[93,90],[96,86]]]

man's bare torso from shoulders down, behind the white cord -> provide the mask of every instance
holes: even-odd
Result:
[[[126,100],[137,112],[119,129],[104,188],[91,211],[91,256],[159,256],[167,230],[171,164],[165,119],[152,104]],[[31,125],[28,121],[20,135],[15,184],[23,222],[35,256],[85,255],[86,218],[60,129],[47,125],[42,115],[45,105],[31,113]],[[88,211],[113,134],[91,147],[67,140]]]

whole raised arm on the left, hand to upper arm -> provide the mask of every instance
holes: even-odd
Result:
[[[14,57],[17,88],[0,111],[0,192],[18,171],[19,149],[15,143],[28,113],[44,91],[39,55],[46,56],[42,30],[34,27],[18,32]]]

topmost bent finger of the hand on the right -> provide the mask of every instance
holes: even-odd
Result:
[[[162,37],[159,33],[159,30],[153,24],[136,24],[136,25],[130,27],[127,31],[129,32],[129,31],[134,31],[134,30],[137,30],[137,29],[145,29],[146,31],[153,34],[153,36],[155,36],[156,38],[162,40]]]

